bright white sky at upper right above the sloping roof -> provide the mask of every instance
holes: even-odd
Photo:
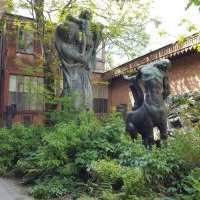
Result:
[[[161,21],[159,30],[154,26],[149,26],[147,32],[151,35],[150,43],[145,51],[151,51],[175,42],[179,35],[188,34],[186,26],[179,26],[182,19],[187,18],[192,23],[198,25],[200,22],[200,12],[196,7],[185,10],[188,0],[154,0],[150,11],[152,17],[158,17]],[[200,27],[199,27],[200,28]],[[166,31],[165,37],[160,37],[159,31]],[[190,33],[191,34],[191,33]]]

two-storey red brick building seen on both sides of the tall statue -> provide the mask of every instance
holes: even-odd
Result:
[[[31,30],[31,18],[4,14],[0,25],[0,124],[12,122],[41,124],[44,120],[44,74],[42,49]],[[105,55],[103,44],[98,50],[93,72],[94,110],[107,112],[108,88],[102,81]],[[12,112],[13,116],[7,116]]]

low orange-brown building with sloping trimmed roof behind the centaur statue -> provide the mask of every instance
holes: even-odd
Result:
[[[200,34],[194,34],[187,37],[184,43],[169,44],[105,72],[102,77],[109,81],[109,111],[115,110],[119,105],[130,109],[133,104],[129,83],[123,80],[122,75],[134,73],[141,65],[161,58],[168,58],[172,62],[168,72],[172,95],[200,91],[199,43]]]

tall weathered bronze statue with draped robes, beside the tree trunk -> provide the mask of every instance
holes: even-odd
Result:
[[[93,95],[91,71],[96,64],[96,50],[101,31],[92,23],[92,15],[82,11],[79,18],[71,15],[56,28],[55,44],[64,76],[64,96],[74,93],[74,105],[91,110]]]

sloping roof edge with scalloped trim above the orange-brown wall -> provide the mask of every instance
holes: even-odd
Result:
[[[182,55],[184,53],[194,50],[197,44],[200,43],[200,34],[195,33],[189,37],[186,37],[185,42],[175,42],[169,45],[166,45],[162,48],[156,49],[150,53],[147,53],[143,56],[135,58],[127,63],[124,63],[112,70],[109,70],[104,73],[103,78],[105,80],[110,80],[116,77],[119,77],[126,73],[134,72],[139,66],[150,63],[152,61],[161,59],[161,58],[172,58],[174,56]]]

